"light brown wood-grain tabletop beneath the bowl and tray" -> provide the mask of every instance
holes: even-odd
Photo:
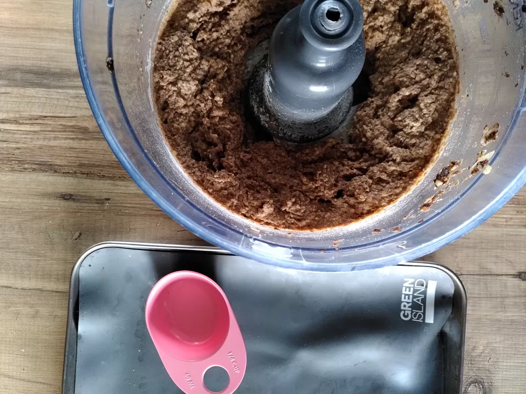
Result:
[[[0,4],[0,391],[58,393],[70,271],[101,241],[204,244],[120,167],[78,76],[72,0]],[[468,293],[464,393],[526,390],[526,189],[427,257]]]

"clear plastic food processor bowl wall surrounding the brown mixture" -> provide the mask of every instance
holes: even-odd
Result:
[[[177,1],[177,0],[176,0]],[[161,135],[150,92],[151,58],[170,0],[74,0],[80,77],[89,105],[116,157],[141,189],[188,230],[232,253],[268,264],[348,271],[408,261],[472,230],[524,184],[526,171],[526,7],[503,2],[447,1],[460,54],[461,89],[452,134],[422,182],[385,211],[339,229],[273,230],[234,215],[191,182]],[[114,60],[114,72],[106,60]],[[485,125],[499,138],[481,148]],[[492,171],[467,177],[482,150],[495,151]],[[462,159],[460,184],[428,212],[433,180]],[[392,229],[400,227],[401,231]],[[381,229],[382,232],[374,232]]]

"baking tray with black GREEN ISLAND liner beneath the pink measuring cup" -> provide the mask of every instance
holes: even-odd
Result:
[[[73,268],[63,394],[181,392],[144,306],[158,279],[184,269],[213,278],[234,310],[248,357],[239,394],[461,393],[466,292],[445,267],[313,273],[215,247],[106,242]]]

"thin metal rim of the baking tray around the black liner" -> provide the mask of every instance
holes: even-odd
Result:
[[[158,243],[147,243],[147,242],[126,242],[126,241],[105,241],[97,243],[87,248],[87,250],[80,255],[72,268],[69,282],[69,295],[68,295],[68,312],[66,320],[66,340],[64,347],[64,365],[62,373],[62,394],[73,394],[75,392],[75,370],[76,370],[76,357],[77,357],[77,327],[75,326],[74,320],[74,308],[77,304],[78,298],[78,274],[80,265],[86,260],[86,258],[98,251],[105,248],[123,248],[132,250],[143,250],[151,252],[205,252],[220,255],[231,255],[234,254],[221,249],[216,246],[193,246],[183,244],[158,244]],[[263,263],[261,263],[263,264]],[[460,338],[460,379],[458,379],[458,393],[462,393],[462,380],[463,380],[463,369],[464,369],[464,345],[466,342],[466,317],[467,317],[467,294],[466,288],[460,281],[460,278],[451,269],[443,265],[432,263],[428,261],[409,261],[402,262],[396,265],[402,266],[419,266],[419,267],[432,267],[437,268],[446,273],[453,281],[454,289],[460,296],[460,326],[461,326],[461,338]],[[292,268],[279,268],[279,269],[292,269]],[[294,270],[298,271],[298,270]],[[305,270],[308,271],[308,270]],[[338,274],[340,272],[327,272],[328,274]],[[76,294],[75,297],[72,295]],[[454,308],[454,306],[453,306]],[[452,312],[453,313],[453,312]],[[74,346],[73,346],[74,344]],[[73,351],[74,348],[74,351]],[[74,353],[74,355],[73,355]],[[73,376],[73,379],[72,379]]]

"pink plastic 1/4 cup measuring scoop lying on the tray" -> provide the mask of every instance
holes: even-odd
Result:
[[[221,288],[205,275],[179,271],[166,275],[146,301],[146,326],[175,384],[187,394],[210,394],[205,372],[228,372],[231,394],[247,367],[247,351],[234,312]]]

